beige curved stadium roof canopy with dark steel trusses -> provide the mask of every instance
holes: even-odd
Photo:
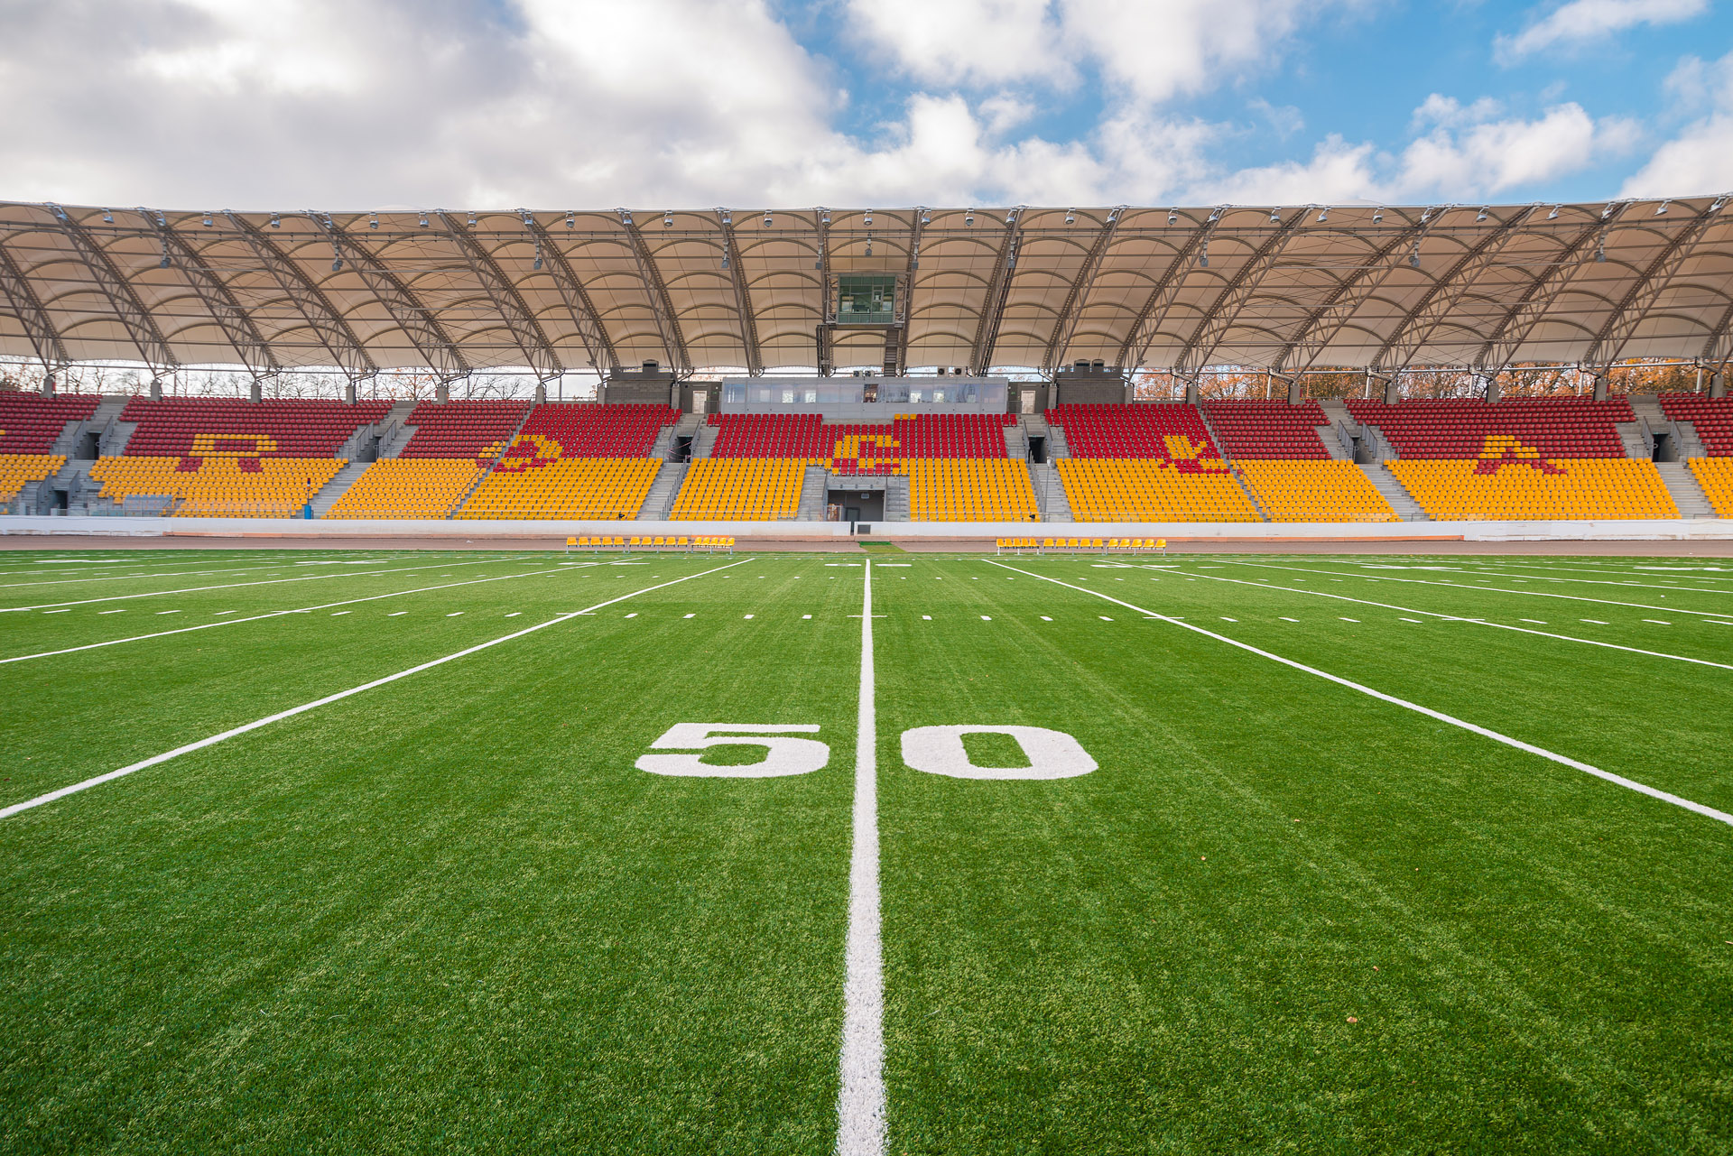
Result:
[[[860,274],[896,277],[896,324],[827,328],[837,279]],[[1730,321],[1726,196],[733,213],[0,203],[0,354],[49,364],[763,373],[820,364],[825,329],[835,366],[1497,371],[1723,362]]]

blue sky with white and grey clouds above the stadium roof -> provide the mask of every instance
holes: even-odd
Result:
[[[0,199],[1733,191],[1733,0],[0,0]]]

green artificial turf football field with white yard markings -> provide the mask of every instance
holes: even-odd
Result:
[[[0,1151],[832,1151],[863,716],[891,1153],[1733,1149],[1733,563],[9,551],[0,660]]]

